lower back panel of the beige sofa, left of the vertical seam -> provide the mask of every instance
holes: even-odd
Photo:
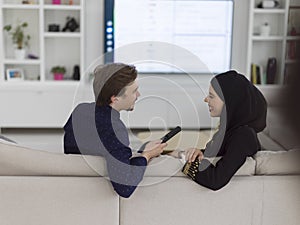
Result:
[[[119,196],[102,177],[0,177],[1,225],[119,225]]]

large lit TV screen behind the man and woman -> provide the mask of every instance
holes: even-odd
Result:
[[[224,72],[231,64],[232,27],[233,0],[105,0],[105,63],[138,54],[141,61],[131,63],[141,73],[181,73],[178,64],[204,72],[187,54],[158,48],[160,42],[189,52],[212,73]],[[128,54],[117,51],[126,46],[132,47]],[[167,63],[156,60],[162,54],[170,56]]]

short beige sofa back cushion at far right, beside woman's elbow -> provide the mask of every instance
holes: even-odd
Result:
[[[256,174],[286,175],[300,174],[300,149],[289,151],[260,151],[254,156]]]

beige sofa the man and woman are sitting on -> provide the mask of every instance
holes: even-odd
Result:
[[[268,101],[274,110],[277,106]],[[260,136],[268,150],[249,157],[223,189],[197,185],[180,172],[182,160],[161,156],[151,161],[129,199],[113,191],[101,157],[49,153],[1,141],[0,224],[297,225],[300,149],[286,151],[286,139],[273,139],[278,132],[278,120],[273,119],[268,117],[268,129]],[[200,145],[209,137],[207,132],[188,136],[194,140],[193,135],[200,135]],[[176,147],[191,143],[178,138]]]

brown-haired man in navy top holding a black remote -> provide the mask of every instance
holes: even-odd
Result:
[[[105,157],[115,191],[128,198],[143,179],[148,161],[159,156],[166,144],[150,142],[140,156],[132,157],[120,111],[133,110],[140,96],[134,66],[98,66],[94,75],[96,102],[82,103],[74,109],[64,126],[64,150],[67,154]]]

